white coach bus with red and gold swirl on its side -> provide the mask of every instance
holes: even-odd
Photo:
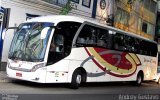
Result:
[[[8,77],[37,83],[134,81],[157,73],[157,44],[133,33],[75,16],[44,16],[19,25]]]

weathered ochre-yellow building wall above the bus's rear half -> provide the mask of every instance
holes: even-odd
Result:
[[[135,34],[146,37],[150,40],[154,40],[155,37],[155,25],[156,25],[156,4],[155,0],[132,0],[130,4],[128,0],[117,0],[115,11],[115,27],[125,31],[133,32]],[[153,2],[154,1],[154,2]],[[153,9],[152,9],[153,8]],[[124,14],[119,14],[117,11],[121,9],[121,12],[127,14],[128,22],[123,19]],[[121,17],[119,18],[118,16]],[[146,25],[146,27],[145,27]]]

